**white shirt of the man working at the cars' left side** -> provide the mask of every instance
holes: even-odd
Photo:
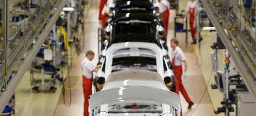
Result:
[[[85,60],[81,64],[82,74],[87,78],[92,78],[93,70],[95,69],[95,65],[93,65],[92,61],[85,58]]]

